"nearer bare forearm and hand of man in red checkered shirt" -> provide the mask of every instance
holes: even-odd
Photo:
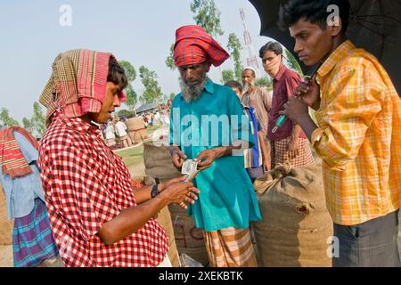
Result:
[[[182,177],[176,179],[181,181]],[[137,232],[160,209],[172,203],[180,204],[184,200],[194,199],[200,193],[192,183],[170,182],[153,199],[148,199],[140,205],[123,209],[118,216],[102,224],[97,235],[106,245],[111,245],[119,240],[124,240],[130,234]]]

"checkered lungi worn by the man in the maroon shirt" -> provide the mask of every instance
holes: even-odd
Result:
[[[279,141],[271,141],[272,169],[278,164],[286,162],[289,162],[292,167],[304,167],[315,162],[312,151],[310,151],[309,141],[304,138],[298,139],[299,155],[295,159],[290,159],[287,150],[290,140],[291,137]]]

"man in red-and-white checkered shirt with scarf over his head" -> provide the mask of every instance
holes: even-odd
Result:
[[[73,50],[55,59],[40,97],[48,112],[39,167],[67,266],[167,265],[168,236],[153,216],[170,203],[197,199],[184,177],[132,189],[127,167],[96,125],[124,102],[126,85],[112,54]]]

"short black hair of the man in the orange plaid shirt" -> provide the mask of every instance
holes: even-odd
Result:
[[[342,32],[348,28],[350,6],[348,0],[290,0],[280,8],[279,26],[290,28],[301,18],[305,18],[321,28],[327,28],[327,20],[332,11],[327,12],[330,5],[337,5],[340,10]]]

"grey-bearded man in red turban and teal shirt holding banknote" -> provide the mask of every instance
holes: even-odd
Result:
[[[174,165],[193,159],[201,191],[190,205],[195,225],[204,230],[209,263],[215,267],[256,266],[250,221],[260,220],[258,200],[243,167],[243,150],[253,144],[250,123],[231,88],[213,83],[207,72],[229,54],[202,28],[176,30],[174,59],[181,93],[170,115]],[[191,171],[191,170],[189,170]]]

